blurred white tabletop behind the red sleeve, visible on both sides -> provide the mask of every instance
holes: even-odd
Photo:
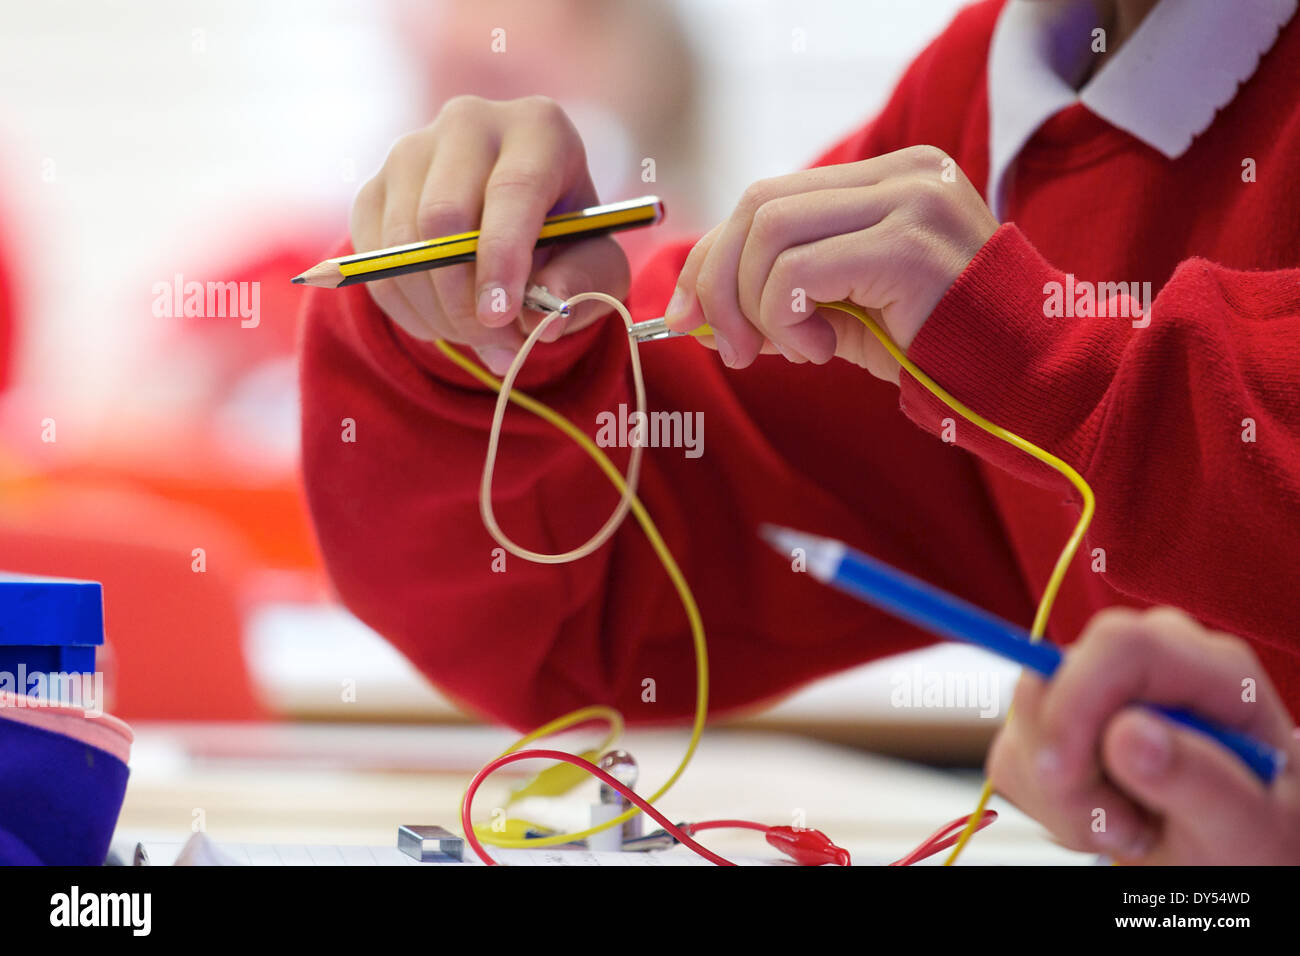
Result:
[[[270,713],[306,721],[463,722],[463,714],[370,628],[337,605],[270,602],[250,618],[244,650]],[[347,674],[352,693],[339,692]],[[939,644],[833,674],[742,718],[937,763],[975,763],[1006,714],[1019,669],[978,648]],[[927,706],[927,682],[957,697]],[[975,684],[966,685],[966,682]],[[900,691],[909,691],[900,706]]]

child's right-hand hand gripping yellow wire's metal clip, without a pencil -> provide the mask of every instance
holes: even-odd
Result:
[[[666,316],[680,330],[707,321],[732,368],[775,347],[792,362],[838,355],[897,382],[897,363],[862,323],[812,303],[874,310],[906,350],[996,230],[957,164],[930,146],[763,179],[696,245]]]

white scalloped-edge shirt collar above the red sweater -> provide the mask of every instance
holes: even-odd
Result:
[[[988,198],[1043,122],[1079,101],[1167,159],[1232,101],[1297,0],[1162,0],[1082,90],[1098,26],[1095,0],[1008,0],[988,56]]]

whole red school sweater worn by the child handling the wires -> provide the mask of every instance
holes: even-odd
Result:
[[[985,60],[998,4],[961,13],[881,114],[822,163],[915,143],[988,174]],[[1019,157],[1009,220],[948,291],[910,355],[963,402],[1072,463],[1097,518],[1049,635],[1071,641],[1114,604],[1173,604],[1248,637],[1300,710],[1300,22],[1210,129],[1169,161],[1072,107]],[[1135,91],[1135,95],[1138,92]],[[1258,181],[1242,181],[1242,159]],[[629,295],[662,315],[686,245]],[[1153,320],[1044,316],[1044,286],[1149,281]],[[540,346],[520,388],[595,431],[629,401],[627,341],[607,320]],[[703,454],[651,449],[641,497],[706,622],[712,709],[915,648],[911,627],[792,574],[755,537],[776,522],[841,537],[1028,624],[1078,516],[1054,472],[959,424],[904,375],[760,356],[733,372],[689,339],[651,343],[653,410],[705,419]],[[685,615],[628,520],[590,558],[507,559],[477,489],[493,394],[391,325],[360,287],[312,290],[303,342],[307,492],[347,605],[445,692],[536,726],[586,704],[629,721],[692,711]],[[344,418],[355,444],[341,441]],[[1243,441],[1243,419],[1256,441]],[[615,454],[616,462],[625,453]],[[585,540],[615,493],[550,425],[511,410],[495,483],[528,548]],[[1105,570],[1093,571],[1093,549]],[[656,682],[654,702],[642,680]]]

